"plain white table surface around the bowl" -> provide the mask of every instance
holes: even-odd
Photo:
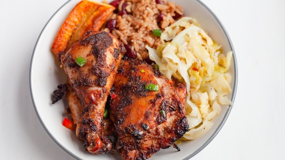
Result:
[[[192,159],[285,159],[285,1],[202,1],[233,42],[239,76],[227,122]],[[0,159],[74,159],[40,124],[29,88],[36,40],[65,2],[0,1]]]

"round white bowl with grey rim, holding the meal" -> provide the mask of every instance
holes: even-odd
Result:
[[[62,126],[65,111],[64,106],[68,106],[66,101],[58,101],[51,105],[51,95],[58,84],[63,84],[67,80],[64,70],[60,68],[60,63],[56,60],[50,51],[52,42],[65,18],[68,16],[72,8],[80,0],[70,0],[66,2],[47,22],[42,30],[32,56],[30,66],[30,91],[34,108],[46,132],[50,137],[77,159],[121,159],[121,156],[114,150],[106,155],[92,155],[85,152],[83,142],[78,140],[74,131]],[[233,92],[228,95],[231,101],[235,99],[237,88],[237,62],[235,51],[231,40],[225,31],[225,28],[213,14],[213,12],[198,0],[176,0],[176,4],[184,7],[184,14],[196,18],[203,28],[213,40],[222,45],[224,52],[233,51],[233,60],[229,71],[231,72],[233,81],[231,87]],[[181,151],[178,152],[173,147],[169,149],[161,149],[158,153],[152,155],[151,159],[190,159],[200,152],[207,144],[213,140],[219,130],[225,123],[232,106],[222,106],[221,113],[215,117],[212,122],[213,127],[201,138],[197,140],[183,142],[179,145]]]

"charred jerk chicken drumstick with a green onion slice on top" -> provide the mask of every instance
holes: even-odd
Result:
[[[110,151],[112,142],[104,133],[104,107],[115,74],[125,51],[123,44],[107,32],[87,32],[61,56],[68,80],[82,104],[82,116],[77,122],[76,136],[84,140],[84,147],[93,154]],[[86,60],[80,67],[76,59]]]

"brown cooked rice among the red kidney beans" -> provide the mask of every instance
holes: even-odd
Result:
[[[155,0],[127,0],[126,10],[130,14],[120,16],[113,13],[109,17],[109,19],[117,20],[117,29],[112,33],[124,44],[130,44],[131,48],[137,51],[139,59],[148,57],[146,45],[157,48],[161,44],[159,37],[154,36],[152,30],[160,29],[163,32],[164,28],[175,22],[172,18],[175,11],[178,14],[183,14],[182,7],[173,2],[162,1],[164,5],[156,4]],[[122,10],[124,2],[125,0],[120,2],[119,11]],[[157,17],[160,13],[166,16],[158,24]],[[107,31],[108,29],[103,30]]]

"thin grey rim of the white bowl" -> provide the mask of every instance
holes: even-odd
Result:
[[[46,132],[48,133],[48,135],[50,136],[50,138],[52,138],[52,140],[54,140],[54,142],[56,142],[56,144],[58,146],[60,146],[64,151],[66,151],[68,154],[70,154],[72,157],[76,158],[76,159],[80,159],[82,160],[80,157],[78,157],[77,155],[73,154],[70,150],[68,150],[66,147],[64,147],[60,142],[58,142],[54,136],[49,132],[48,128],[44,125],[39,113],[38,113],[38,110],[36,108],[36,105],[35,105],[35,101],[34,101],[34,94],[33,94],[33,91],[32,91],[32,77],[31,77],[31,71],[32,71],[32,62],[33,62],[33,58],[34,58],[34,52],[36,50],[36,47],[37,47],[37,44],[38,44],[38,41],[42,35],[42,32],[44,31],[44,29],[46,28],[47,24],[50,22],[50,20],[54,17],[54,15],[62,8],[64,7],[67,3],[69,3],[70,1],[72,0],[68,0],[66,3],[64,3],[51,17],[50,19],[48,20],[48,22],[46,22],[46,24],[44,25],[44,28],[42,29],[42,31],[40,32],[40,35],[38,36],[38,39],[36,41],[36,44],[35,44],[35,47],[34,47],[34,50],[33,50],[33,53],[32,53],[32,58],[31,58],[31,62],[30,62],[30,76],[29,76],[29,81],[30,81],[30,94],[31,94],[31,98],[32,98],[32,103],[33,103],[33,106],[34,106],[34,109],[36,111],[36,115],[38,117],[38,119],[40,120],[40,123],[42,124],[42,126],[44,127],[44,129],[46,130]],[[233,65],[234,65],[234,75],[235,75],[235,80],[234,80],[234,84],[233,84],[233,90],[232,90],[232,97],[231,97],[231,101],[234,102],[235,101],[235,96],[236,96],[236,92],[237,92],[237,79],[238,79],[238,71],[237,71],[237,59],[236,59],[236,55],[235,55],[235,50],[234,50],[234,47],[233,47],[233,44],[231,42],[231,39],[229,38],[229,35],[227,33],[227,31],[225,30],[225,27],[223,26],[223,24],[221,23],[221,21],[218,19],[218,17],[213,13],[213,11],[211,11],[211,9],[209,9],[209,7],[207,7],[203,2],[201,2],[200,0],[196,0],[198,3],[200,3],[205,9],[207,9],[207,11],[209,11],[210,14],[212,14],[212,16],[215,18],[215,20],[218,22],[219,26],[221,26],[224,34],[226,35],[227,37],[227,40],[228,40],[228,43],[230,45],[230,48],[231,48],[231,51],[233,51]],[[202,149],[204,149],[214,138],[215,136],[217,136],[217,134],[219,133],[219,131],[221,130],[221,128],[223,127],[223,125],[225,124],[227,118],[229,117],[229,114],[231,112],[231,109],[232,109],[233,106],[229,105],[228,109],[227,109],[227,112],[225,114],[225,116],[223,117],[221,123],[219,124],[219,126],[217,127],[217,129],[214,131],[214,133],[210,136],[210,138],[201,146],[199,147],[196,151],[194,151],[193,153],[191,153],[190,155],[188,155],[187,157],[185,157],[184,159],[182,160],[187,160],[187,159],[190,159],[192,157],[194,157],[196,154],[198,154]]]

